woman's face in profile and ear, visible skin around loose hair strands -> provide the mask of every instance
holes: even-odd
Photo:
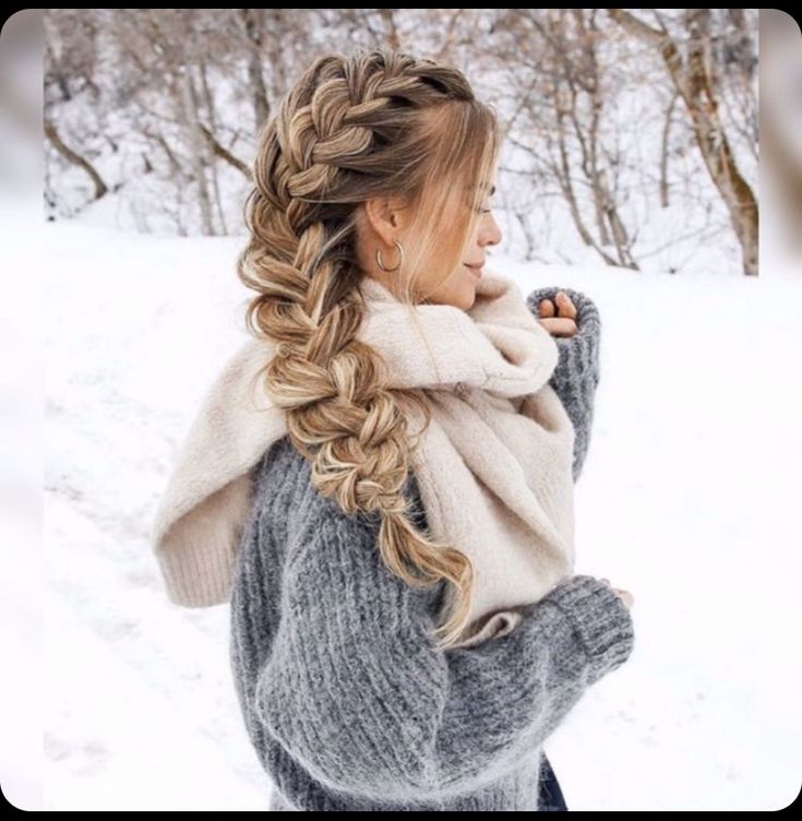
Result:
[[[487,261],[488,246],[495,246],[501,242],[502,233],[499,224],[495,222],[491,209],[490,198],[495,191],[495,186],[490,188],[488,197],[480,203],[479,207],[482,213],[477,222],[474,236],[470,238],[468,250],[465,259],[460,261],[456,270],[452,271],[445,279],[442,273],[438,271],[421,271],[416,278],[416,301],[432,302],[434,305],[452,305],[462,308],[464,311],[469,310],[476,299],[476,286],[482,275],[481,266]],[[395,217],[382,212],[379,207],[367,210],[369,218],[366,221],[368,230],[362,234],[359,243],[359,258],[362,270],[367,271],[369,276],[378,279],[382,285],[390,288],[391,291],[398,293],[398,272],[385,272],[376,264],[375,248],[381,248],[382,262],[386,267],[393,267],[398,263],[398,249],[392,245],[391,237],[403,237],[404,219],[406,215],[396,215]],[[444,221],[447,224],[447,219]],[[404,245],[403,238],[400,239]],[[390,245],[390,249],[387,249]],[[369,249],[373,249],[370,251]],[[475,266],[471,269],[470,266]],[[406,278],[410,274],[402,265],[400,275]]]

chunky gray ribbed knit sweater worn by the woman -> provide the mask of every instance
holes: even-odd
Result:
[[[552,384],[574,425],[589,425],[598,316],[563,290],[579,307],[579,333],[558,337]],[[588,442],[578,432],[575,476]],[[511,633],[441,652],[430,634],[445,583],[414,590],[384,567],[379,514],[344,514],[287,438],[264,454],[253,487],[230,663],[274,785],[271,809],[538,809],[544,739],[632,653],[618,595],[574,575],[525,606]],[[426,527],[411,473],[405,493]]]

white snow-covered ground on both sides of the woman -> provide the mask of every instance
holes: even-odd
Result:
[[[167,602],[148,530],[194,403],[240,344],[241,238],[50,224],[46,809],[263,810],[228,609]],[[802,772],[802,287],[493,267],[603,325],[577,572],[635,596],[636,647],[546,749],[572,810],[775,810]]]

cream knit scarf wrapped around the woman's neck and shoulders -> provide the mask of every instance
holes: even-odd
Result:
[[[469,646],[508,632],[515,609],[573,572],[574,429],[549,384],[558,348],[518,287],[486,269],[474,306],[419,305],[426,342],[383,285],[366,277],[359,338],[376,348],[391,388],[423,388],[432,421],[412,469],[431,534],[474,563]],[[251,468],[287,433],[256,370],[272,345],[250,340],[202,401],[152,531],[170,600],[229,600],[249,515]],[[419,430],[416,418],[411,429]]]

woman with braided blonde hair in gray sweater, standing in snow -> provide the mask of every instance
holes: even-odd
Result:
[[[239,273],[286,436],[230,659],[271,809],[564,810],[543,741],[632,652],[568,570],[598,321],[482,272],[498,150],[460,72],[385,48],[316,59],[261,135]]]

